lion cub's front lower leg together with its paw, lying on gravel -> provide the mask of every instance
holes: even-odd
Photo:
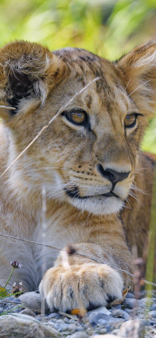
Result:
[[[130,252],[126,244],[120,244],[118,250],[108,242],[103,246],[81,243],[76,244],[76,251],[106,263],[99,264],[79,255],[70,255],[70,269],[67,270],[59,256],[54,267],[47,270],[39,286],[50,310],[69,311],[79,306],[77,299],[83,301],[86,309],[105,306],[115,298],[121,299],[124,285],[129,287],[131,284],[130,277],[115,267],[132,271]]]

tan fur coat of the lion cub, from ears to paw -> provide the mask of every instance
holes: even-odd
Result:
[[[73,255],[71,271],[65,271],[58,251],[46,248],[50,269],[41,281],[41,247],[0,237],[1,285],[10,272],[9,261],[17,260],[22,269],[14,271],[8,287],[22,280],[24,289],[35,290],[41,282],[50,309],[63,311],[76,307],[76,297],[86,308],[105,305],[109,296],[121,298],[123,288],[132,285],[130,276],[115,267],[133,272],[131,246],[137,244],[142,254],[149,227],[153,161],[139,147],[155,108],[155,50],[156,42],[149,42],[114,63],[85,50],[50,52],[23,41],[0,50],[0,104],[16,105],[15,115],[0,109],[0,173],[61,106],[100,77],[67,109],[83,109],[90,127],[72,124],[60,114],[3,176],[0,231],[42,241],[44,186],[45,244],[64,248],[73,243],[77,252],[105,262]],[[132,112],[144,116],[125,129],[124,119]],[[130,172],[113,187],[119,198],[102,195],[111,191],[112,183],[99,164],[105,171]]]

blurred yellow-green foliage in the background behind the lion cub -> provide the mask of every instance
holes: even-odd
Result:
[[[0,45],[14,39],[89,49],[114,60],[156,39],[156,0],[0,0]],[[156,118],[142,148],[156,153]]]

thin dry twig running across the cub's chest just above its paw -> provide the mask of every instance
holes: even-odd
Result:
[[[55,250],[60,250],[60,251],[63,250],[63,251],[66,251],[66,249],[61,249],[61,248],[59,248],[58,246],[52,246],[52,245],[42,244],[42,243],[39,243],[39,242],[30,241],[30,240],[28,240],[28,239],[23,239],[23,238],[19,238],[19,237],[14,237],[14,236],[10,236],[10,235],[4,235],[4,234],[1,234],[1,233],[0,233],[0,236],[8,237],[8,238],[13,238],[13,239],[17,239],[17,240],[20,240],[20,241],[32,243],[32,244],[43,245],[43,246],[46,246],[46,247],[48,247],[48,248],[55,249]],[[100,263],[100,264],[108,264],[109,266],[111,266],[111,267],[114,268],[114,269],[117,269],[117,270],[119,270],[119,271],[121,271],[121,272],[125,272],[125,273],[127,273],[128,275],[130,275],[131,277],[135,277],[134,274],[132,274],[132,273],[126,271],[126,270],[117,268],[116,266],[114,266],[114,265],[112,265],[112,264],[110,264],[110,263],[108,263],[108,262],[100,261],[100,260],[98,260],[98,259],[96,259],[96,258],[90,257],[89,255],[80,254],[79,252],[74,252],[74,254],[75,254],[75,255],[82,256],[82,257],[85,257],[85,258],[88,258],[88,259],[91,259],[92,261],[97,262],[97,263]],[[144,281],[144,283],[146,283],[146,284],[156,286],[155,283],[146,281],[146,280],[144,280],[144,279],[143,279],[143,281]]]

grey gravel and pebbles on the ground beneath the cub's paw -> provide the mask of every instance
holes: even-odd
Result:
[[[14,304],[9,303],[7,300],[14,302]],[[21,307],[14,309],[21,304]],[[70,318],[68,314],[63,315],[58,312],[50,313],[48,309],[46,309],[45,315],[41,316],[40,308],[41,297],[36,292],[26,292],[19,298],[11,296],[0,301],[0,313],[6,311],[8,311],[7,314],[18,313],[20,318],[24,318],[24,316],[27,315],[25,318],[29,318],[30,320],[35,319],[36,322],[55,329],[55,332],[57,332],[54,335],[55,337],[57,337],[58,334],[60,337],[67,338],[87,338],[89,335],[98,336],[111,333],[114,336],[120,337],[156,338],[156,291],[152,291],[151,298],[147,297],[146,291],[141,291],[138,300],[135,299],[132,293],[128,293],[121,305],[114,305],[109,309],[101,307],[89,311],[87,315],[92,332],[89,331],[90,329],[88,330],[88,324],[85,324],[82,318],[75,315]],[[0,316],[0,322],[2,317],[4,316]],[[133,333],[133,335],[131,335],[132,333],[126,333],[127,329],[123,329],[125,325],[129,324],[132,329],[131,320],[135,320],[139,323],[139,329],[137,329],[137,332],[135,334]],[[141,333],[139,333],[139,330]],[[14,337],[14,335],[11,335],[9,331],[8,335],[5,333],[3,336],[0,331],[0,337]],[[26,337],[26,335],[18,336],[17,334],[15,337]],[[33,335],[32,337],[38,336]]]

